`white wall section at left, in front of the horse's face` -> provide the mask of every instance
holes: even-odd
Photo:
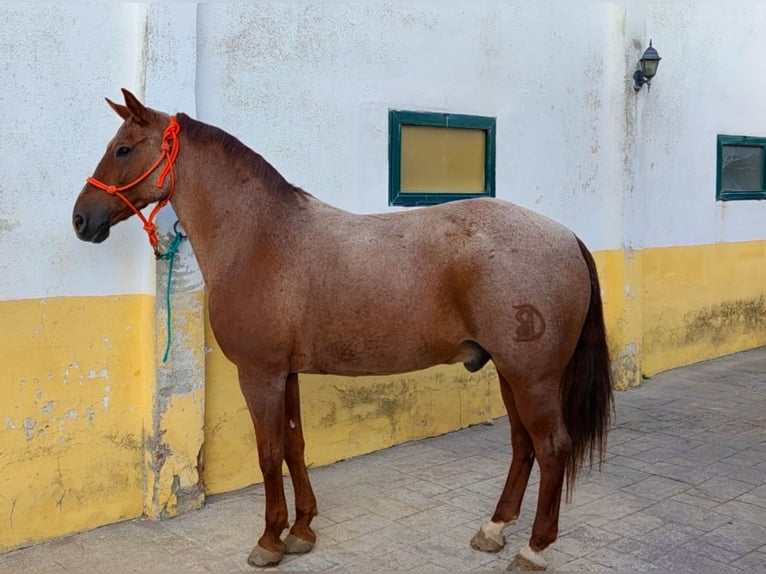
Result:
[[[119,126],[104,96],[136,83],[129,5],[0,5],[0,300],[153,293],[140,226],[76,239],[74,199]]]

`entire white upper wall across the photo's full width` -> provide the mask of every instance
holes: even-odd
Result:
[[[766,5],[261,2],[3,5],[0,299],[153,293],[135,221],[77,240],[74,199],[119,125],[103,97],[227,129],[292,182],[387,205],[389,108],[497,117],[497,195],[593,249],[764,237],[715,202],[716,133],[766,135]],[[630,76],[648,39],[652,90]],[[172,224],[172,213],[162,224]]]

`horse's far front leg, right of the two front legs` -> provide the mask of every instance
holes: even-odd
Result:
[[[288,554],[309,552],[316,542],[316,534],[311,529],[311,520],[317,515],[317,503],[311,489],[306,459],[303,425],[301,424],[301,399],[298,389],[298,375],[287,376],[285,388],[285,462],[290,471],[295,492],[295,523],[285,538]]]

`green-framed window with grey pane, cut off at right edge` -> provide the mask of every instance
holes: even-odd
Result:
[[[766,199],[766,138],[718,136],[716,199]]]

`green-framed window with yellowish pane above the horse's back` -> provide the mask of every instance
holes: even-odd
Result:
[[[389,204],[494,197],[495,124],[485,116],[389,111]]]

